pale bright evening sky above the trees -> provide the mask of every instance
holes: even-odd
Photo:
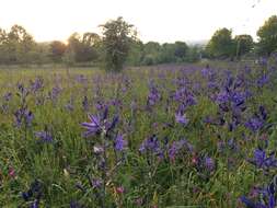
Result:
[[[142,42],[173,43],[209,39],[220,27],[256,38],[274,14],[277,0],[2,0],[0,27],[20,24],[38,42],[65,42],[123,16]]]

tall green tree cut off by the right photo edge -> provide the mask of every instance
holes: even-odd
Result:
[[[258,50],[261,54],[270,55],[277,50],[277,15],[270,16],[257,31],[259,37]]]

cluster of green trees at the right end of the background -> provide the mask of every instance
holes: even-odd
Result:
[[[251,35],[243,34],[232,37],[232,31],[220,28],[216,31],[205,48],[208,58],[241,58],[244,55],[270,56],[277,51],[277,15],[265,21],[256,33],[258,42]]]

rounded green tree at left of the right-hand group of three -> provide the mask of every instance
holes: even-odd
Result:
[[[235,54],[235,44],[232,39],[232,31],[220,28],[216,31],[207,45],[207,51],[216,58],[228,58]]]

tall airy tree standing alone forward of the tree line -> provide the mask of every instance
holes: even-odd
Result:
[[[134,25],[117,18],[101,25],[106,70],[120,71],[128,57],[130,44],[137,38]]]

